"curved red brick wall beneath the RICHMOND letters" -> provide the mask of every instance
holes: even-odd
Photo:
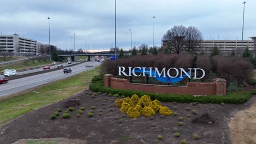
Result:
[[[117,79],[113,75],[104,75],[104,86],[131,89],[150,93],[173,93],[193,95],[225,95],[226,81],[214,79],[213,82],[188,82],[187,86],[147,85],[142,83],[130,83],[126,79]]]

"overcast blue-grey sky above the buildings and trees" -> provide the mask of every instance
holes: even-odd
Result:
[[[240,0],[117,0],[117,46],[161,46],[161,38],[175,25],[199,28],[203,39],[242,39],[243,1]],[[256,36],[256,1],[245,4],[243,39]],[[114,0],[8,0],[1,1],[0,31],[13,33],[63,50],[109,50],[115,46]],[[153,18],[155,16],[155,19]],[[89,47],[85,47],[85,41]]]

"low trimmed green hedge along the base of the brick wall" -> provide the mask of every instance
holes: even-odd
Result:
[[[102,78],[100,78],[100,76]],[[112,93],[125,95],[126,97],[132,97],[133,94],[137,94],[139,98],[143,95],[149,95],[150,99],[164,102],[178,102],[178,103],[193,103],[199,102],[203,104],[212,103],[212,104],[243,104],[246,103],[251,97],[252,94],[256,94],[256,89],[251,89],[249,92],[228,92],[226,95],[207,95],[201,97],[194,97],[191,94],[157,94],[157,93],[148,93],[142,91],[133,91],[127,89],[115,89],[110,87],[103,86],[103,75],[95,76],[94,81],[92,81],[89,89],[94,92],[101,93]],[[98,81],[97,81],[98,80]]]

